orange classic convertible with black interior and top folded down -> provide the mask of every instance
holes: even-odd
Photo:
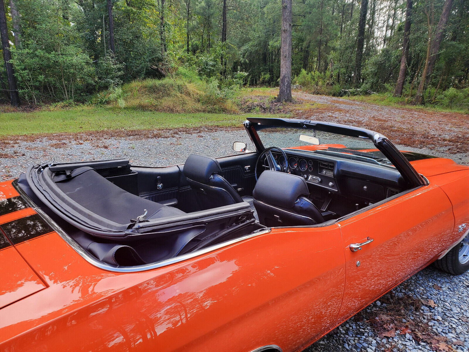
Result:
[[[345,125],[244,126],[232,156],[0,184],[0,350],[300,351],[433,262],[469,268],[468,167]]]

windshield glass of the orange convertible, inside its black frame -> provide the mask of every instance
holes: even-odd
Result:
[[[312,153],[328,154],[340,158],[392,166],[369,138],[349,137],[308,128],[256,126],[257,134],[265,148],[301,149]],[[315,140],[319,139],[319,145]]]

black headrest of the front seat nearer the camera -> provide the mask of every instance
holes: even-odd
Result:
[[[264,203],[292,208],[296,199],[309,196],[308,185],[303,177],[279,171],[265,170],[257,180],[252,196]]]

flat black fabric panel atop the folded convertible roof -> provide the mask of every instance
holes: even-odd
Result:
[[[186,214],[182,210],[140,198],[124,191],[90,167],[55,174],[54,183],[70,199],[105,219],[127,224],[147,210],[147,220]]]

